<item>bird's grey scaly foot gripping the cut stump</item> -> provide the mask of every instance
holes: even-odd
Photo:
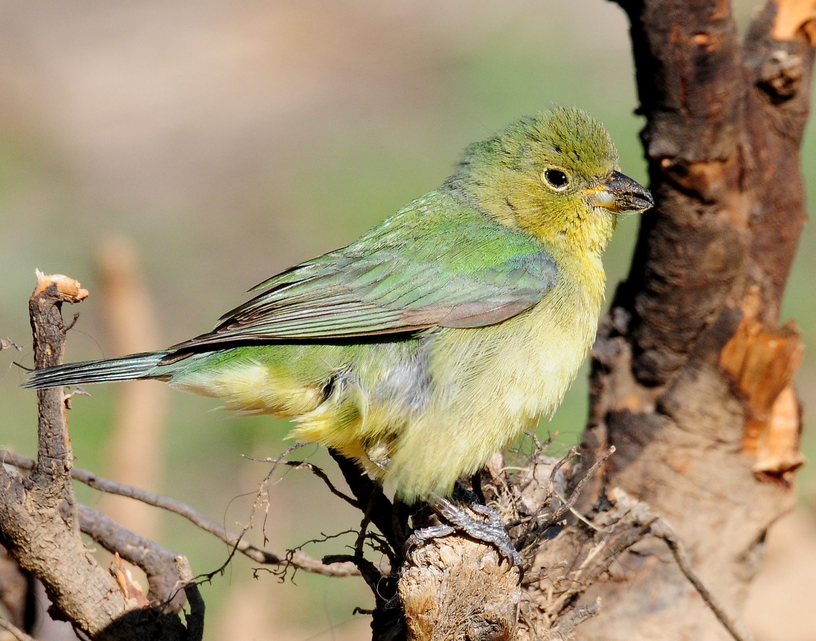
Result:
[[[433,498],[428,501],[428,505],[432,507],[437,515],[445,519],[447,524],[416,530],[410,535],[406,546],[419,545],[428,541],[428,539],[446,537],[456,530],[460,530],[467,534],[468,537],[495,546],[499,550],[499,554],[511,561],[523,574],[524,568],[521,564],[521,556],[519,556],[516,547],[513,546],[499,512],[478,502],[476,495],[464,488],[458,481],[451,498],[455,502],[446,498]],[[477,515],[486,517],[486,519],[474,518],[468,514],[464,506],[470,508]]]

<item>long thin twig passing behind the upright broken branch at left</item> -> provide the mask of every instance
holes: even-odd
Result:
[[[0,464],[2,463],[11,463],[11,465],[21,470],[31,470],[34,465],[32,459],[21,456],[20,454],[8,452],[7,450],[0,450]],[[134,488],[131,485],[116,483],[115,481],[97,476],[90,471],[83,470],[80,467],[74,467],[71,470],[71,477],[100,492],[118,494],[119,496],[132,498],[136,501],[184,516],[184,518],[188,519],[192,524],[219,537],[229,546],[235,546],[237,551],[246,555],[255,561],[255,563],[269,565],[289,563],[295,566],[295,568],[299,568],[305,572],[322,574],[326,577],[357,577],[360,575],[360,572],[357,571],[357,568],[353,567],[353,564],[323,564],[318,559],[314,559],[312,556],[299,550],[295,551],[295,554],[291,555],[290,559],[287,558],[287,555],[262,550],[246,542],[239,535],[229,532],[218,521],[202,515],[201,512],[175,498],[165,497],[141,488]]]

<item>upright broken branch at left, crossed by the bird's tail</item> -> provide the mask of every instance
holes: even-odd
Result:
[[[65,338],[60,307],[78,303],[86,295],[67,276],[38,273],[29,300],[38,368],[60,364]],[[57,612],[87,634],[104,636],[104,630],[129,606],[116,581],[88,555],[79,536],[62,388],[39,390],[38,401],[38,461],[31,474],[22,478],[0,466],[0,537],[20,567],[42,581]]]

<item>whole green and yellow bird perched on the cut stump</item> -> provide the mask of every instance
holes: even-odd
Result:
[[[211,332],[24,385],[155,378],[292,418],[292,438],[439,505],[555,412],[596,334],[619,214],[653,202],[600,122],[555,107],[470,145],[441,187],[257,285]]]

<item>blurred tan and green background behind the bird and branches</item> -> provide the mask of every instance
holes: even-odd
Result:
[[[741,24],[751,8],[736,7]],[[436,187],[469,142],[552,102],[605,122],[623,170],[645,180],[628,24],[610,2],[3,2],[0,338],[24,351],[0,355],[0,442],[36,449],[33,393],[17,387],[23,374],[11,365],[31,363],[35,267],[91,291],[67,360],[114,356],[98,256],[111,237],[130,239],[157,310],[156,347],[175,343],[211,329],[251,285],[346,244]],[[813,126],[803,162],[813,192]],[[624,220],[607,253],[610,295],[628,270],[637,224]],[[805,343],[816,336],[814,249],[809,226],[783,312]],[[811,406],[811,351],[797,381]],[[106,465],[117,391],[91,393],[69,415],[77,465],[116,478]],[[268,469],[242,454],[276,456],[287,427],[208,411],[215,405],[171,395],[153,484],[233,526],[249,519]],[[582,374],[542,431],[571,444],[586,408]],[[336,477],[324,452],[306,453]],[[279,477],[266,525],[273,549],[357,524],[307,472]],[[800,480],[801,501],[812,506],[816,474],[805,466]],[[197,572],[228,554],[174,516],[162,517],[157,537]],[[307,550],[320,556],[352,541]],[[252,567],[238,558],[203,586],[208,639],[366,638],[368,618],[351,614],[371,604],[361,580],[299,573],[296,585],[282,584],[265,572],[253,579]]]

